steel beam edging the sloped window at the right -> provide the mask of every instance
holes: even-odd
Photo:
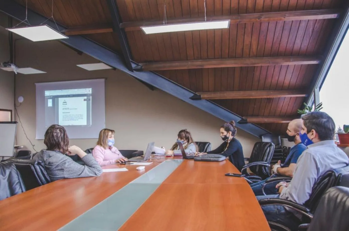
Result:
[[[326,55],[326,58],[315,73],[310,85],[308,97],[306,97],[304,100],[304,103],[306,103],[307,105],[314,104],[313,93],[317,88],[321,90],[322,84],[324,84],[329,69],[331,68],[336,54],[343,42],[343,39],[347,34],[349,28],[349,3],[346,3],[346,7],[344,7],[343,9],[343,13],[340,14],[340,17],[336,20],[337,23],[333,29],[333,34],[329,39],[326,52],[324,53],[324,55]],[[302,106],[302,109],[304,109],[304,107],[305,105]]]

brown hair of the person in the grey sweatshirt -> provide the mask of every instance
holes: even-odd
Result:
[[[46,150],[60,151],[62,154],[67,154],[69,147],[69,137],[64,127],[53,124],[47,128],[44,137]]]

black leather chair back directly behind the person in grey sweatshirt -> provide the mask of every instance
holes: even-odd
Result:
[[[34,159],[9,158],[8,163],[13,163],[21,174],[25,189],[30,189],[50,183],[50,177],[47,175],[44,163]]]

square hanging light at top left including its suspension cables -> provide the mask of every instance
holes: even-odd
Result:
[[[44,24],[50,18],[53,19],[53,22],[55,23],[57,30],[54,30],[50,26]],[[20,25],[23,22],[29,24],[29,26],[17,27],[18,25]],[[30,39],[33,42],[68,38],[67,36],[65,36],[59,32],[58,25],[57,25],[56,21],[54,20],[53,0],[52,0],[52,15],[51,15],[51,17],[47,18],[44,22],[40,23],[40,25],[36,25],[36,26],[30,25],[30,23],[28,21],[28,0],[27,0],[26,9],[25,9],[25,19],[22,22],[15,25],[13,28],[7,28],[7,30],[9,30],[13,33],[16,33],[17,35],[23,36],[24,38]]]

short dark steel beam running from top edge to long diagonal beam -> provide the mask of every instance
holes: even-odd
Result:
[[[120,23],[122,23],[122,21],[121,21],[121,16],[119,14],[118,5],[116,3],[116,0],[106,0],[106,1],[109,7],[111,19],[113,22],[113,31],[117,33],[119,38],[122,55],[124,55],[125,65],[129,71],[133,72],[133,67],[131,63],[132,58],[131,58],[131,53],[129,51],[125,30],[120,28]]]

